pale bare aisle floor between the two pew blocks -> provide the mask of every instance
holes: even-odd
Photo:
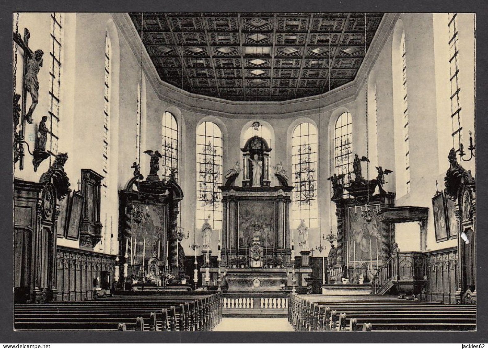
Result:
[[[214,331],[294,331],[285,317],[224,317]]]

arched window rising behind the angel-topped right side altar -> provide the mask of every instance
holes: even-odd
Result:
[[[352,173],[352,119],[351,113],[342,113],[336,121],[334,132],[335,174],[344,174],[344,184],[351,181]],[[345,195],[348,195],[345,193]]]

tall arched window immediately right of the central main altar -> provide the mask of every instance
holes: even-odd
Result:
[[[301,219],[309,228],[317,228],[317,128],[303,122],[291,136],[293,171],[292,226],[298,227]]]

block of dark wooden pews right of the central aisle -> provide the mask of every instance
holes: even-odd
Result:
[[[414,302],[388,296],[292,295],[296,330],[473,330],[475,306]]]

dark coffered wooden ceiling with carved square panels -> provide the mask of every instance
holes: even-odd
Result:
[[[139,35],[142,19],[142,40],[161,79],[204,96],[280,101],[319,95],[354,80],[365,57],[364,13],[129,15]],[[366,13],[367,48],[382,18]]]

